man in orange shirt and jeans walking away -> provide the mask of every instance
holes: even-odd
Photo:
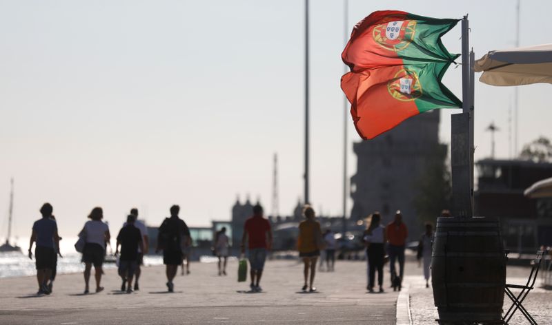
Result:
[[[404,247],[406,244],[406,238],[408,237],[408,229],[402,222],[402,213],[397,210],[395,213],[395,220],[387,225],[386,228],[387,239],[389,242],[389,266],[391,268],[391,284],[395,279],[395,260],[399,260],[399,275],[402,281],[404,275]]]

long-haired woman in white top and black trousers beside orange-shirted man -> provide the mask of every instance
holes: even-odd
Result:
[[[368,289],[369,292],[374,292],[375,271],[377,270],[377,285],[380,286],[380,293],[384,292],[384,244],[386,242],[385,228],[380,225],[382,217],[380,213],[375,211],[372,213],[372,218],[366,234],[364,235],[364,243],[368,253]]]

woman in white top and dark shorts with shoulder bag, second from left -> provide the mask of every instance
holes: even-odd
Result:
[[[101,286],[101,275],[103,270],[103,260],[106,255],[106,242],[109,242],[111,235],[109,233],[108,224],[101,221],[103,219],[103,210],[101,207],[95,207],[88,215],[88,220],[79,237],[85,238],[85,244],[82,252],[82,262],[84,262],[84,293],[89,293],[90,271],[92,265],[94,265],[95,279],[96,279],[96,292],[103,291]]]

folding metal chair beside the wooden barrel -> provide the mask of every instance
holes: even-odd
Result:
[[[543,253],[544,251],[538,251],[537,258],[531,261],[531,264],[533,265],[533,267],[531,268],[531,273],[529,273],[529,278],[527,279],[526,284],[524,285],[506,284],[504,292],[506,293],[506,295],[508,295],[508,297],[510,297],[510,300],[512,300],[512,305],[510,306],[508,311],[506,311],[504,316],[502,316],[502,320],[504,320],[506,324],[508,324],[508,322],[512,318],[515,311],[517,311],[517,309],[521,311],[521,313],[525,316],[525,318],[529,321],[529,323],[535,324],[535,325],[537,324],[537,322],[535,322],[535,319],[531,317],[531,315],[529,314],[529,311],[525,309],[522,303],[527,297],[527,295],[529,294],[529,291],[533,290],[533,287],[535,286],[535,281],[537,280],[537,275],[539,273],[540,263],[542,262]],[[515,295],[511,291],[511,289],[520,289],[521,291],[520,293]]]

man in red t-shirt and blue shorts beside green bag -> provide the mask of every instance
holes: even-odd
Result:
[[[267,240],[268,237],[268,240]],[[272,232],[270,222],[263,218],[263,208],[260,205],[253,207],[253,217],[244,224],[242,237],[242,253],[245,253],[246,238],[248,238],[249,264],[251,266],[250,288],[253,292],[262,291],[259,286],[266,260],[266,251],[272,247]]]

